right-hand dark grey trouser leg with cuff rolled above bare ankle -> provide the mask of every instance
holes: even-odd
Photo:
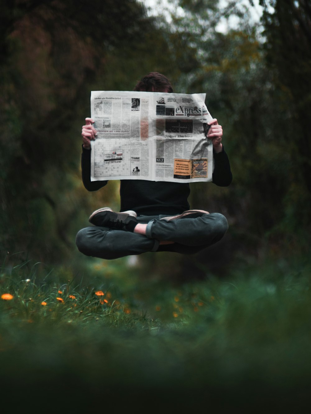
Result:
[[[192,254],[217,243],[227,230],[226,217],[220,213],[211,213],[202,214],[201,217],[170,221],[154,219],[147,225],[146,236],[175,242],[175,244],[159,246],[158,251]]]

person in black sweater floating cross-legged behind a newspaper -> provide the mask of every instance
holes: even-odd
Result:
[[[172,93],[173,87],[166,76],[150,72],[134,91]],[[90,178],[91,140],[96,139],[93,123],[86,118],[82,127],[82,181],[88,191],[108,183]],[[226,187],[232,173],[222,144],[222,126],[217,119],[208,124],[207,139],[212,141],[214,158],[212,183]],[[89,217],[92,226],[77,233],[77,248],[84,255],[106,260],[160,251],[194,254],[208,248],[224,237],[227,219],[217,212],[190,209],[189,195],[189,183],[121,180],[120,212],[110,207],[94,211]]]

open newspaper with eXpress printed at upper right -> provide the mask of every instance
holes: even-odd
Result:
[[[92,91],[91,181],[212,181],[205,94]]]

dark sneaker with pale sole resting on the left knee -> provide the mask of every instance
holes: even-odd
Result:
[[[103,207],[94,211],[89,222],[94,226],[108,227],[114,230],[133,231],[137,224],[137,214],[133,210],[116,213],[109,207]]]

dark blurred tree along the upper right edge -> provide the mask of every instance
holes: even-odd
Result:
[[[311,4],[309,0],[260,0],[265,51],[277,98],[286,111],[282,137],[294,168],[289,177],[286,226],[310,231],[311,207]],[[284,133],[289,130],[289,134]],[[292,201],[292,203],[290,203]]]

